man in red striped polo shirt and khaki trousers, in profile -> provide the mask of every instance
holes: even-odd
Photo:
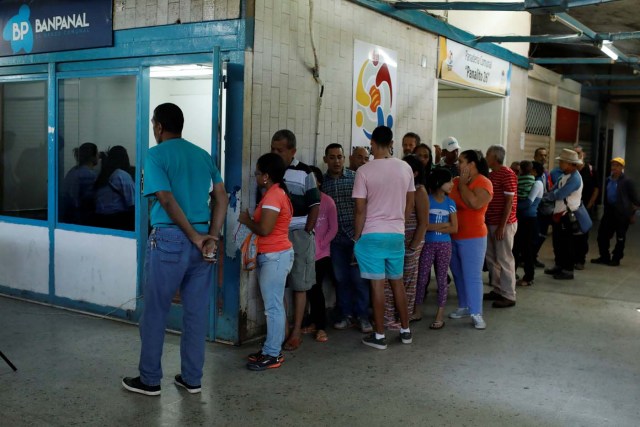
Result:
[[[486,262],[493,290],[485,294],[484,299],[493,301],[494,308],[516,305],[516,265],[512,249],[518,229],[518,178],[511,168],[504,166],[504,157],[505,150],[501,145],[492,145],[487,150],[493,199],[485,214],[489,229]]]

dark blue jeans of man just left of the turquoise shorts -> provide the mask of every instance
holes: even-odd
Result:
[[[336,297],[342,316],[369,318],[369,281],[352,265],[353,241],[338,234],[331,242],[331,263],[336,277]]]

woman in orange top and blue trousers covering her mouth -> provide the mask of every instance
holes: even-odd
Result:
[[[453,180],[449,197],[458,209],[458,232],[451,235],[451,272],[458,292],[458,309],[451,319],[471,316],[476,329],[487,327],[482,318],[482,264],[487,251],[487,211],[493,185],[489,166],[478,150],[463,151],[458,158],[460,176]]]

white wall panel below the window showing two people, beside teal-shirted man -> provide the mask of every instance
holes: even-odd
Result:
[[[119,307],[136,296],[136,258],[135,239],[56,230],[56,296]]]

